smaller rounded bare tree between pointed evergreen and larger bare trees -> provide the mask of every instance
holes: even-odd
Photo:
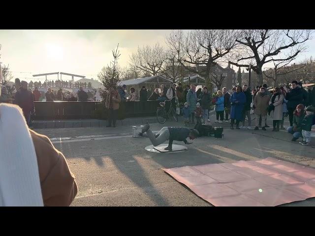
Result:
[[[163,71],[162,65],[165,59],[165,50],[157,43],[154,47],[149,45],[138,47],[137,52],[130,56],[129,64],[151,76]]]

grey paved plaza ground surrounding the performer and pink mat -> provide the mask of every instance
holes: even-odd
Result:
[[[213,115],[211,120],[215,120]],[[272,120],[267,123],[271,126]],[[151,129],[158,131],[164,126],[183,123],[154,123]],[[160,168],[266,157],[315,168],[315,148],[291,142],[291,135],[285,131],[230,130],[225,122],[220,126],[224,127],[223,139],[201,137],[193,140],[187,151],[178,153],[148,152],[144,148],[151,144],[150,140],[132,138],[130,125],[34,131],[54,141],[76,177],[78,194],[71,206],[212,206]],[[287,120],[284,126],[288,126]],[[63,139],[60,142],[54,138]],[[314,133],[312,142],[315,143]],[[174,144],[184,145],[177,141]],[[315,198],[283,206],[315,206]]]

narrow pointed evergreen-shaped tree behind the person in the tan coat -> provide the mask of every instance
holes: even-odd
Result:
[[[101,72],[97,75],[98,79],[105,87],[105,90],[101,89],[103,97],[113,86],[117,86],[118,82],[121,80],[122,71],[118,65],[118,59],[121,54],[118,51],[118,46],[119,44],[117,45],[116,50],[112,51],[113,61],[111,61],[106,67],[103,67]]]

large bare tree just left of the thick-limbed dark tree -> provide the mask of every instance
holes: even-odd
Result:
[[[210,87],[212,67],[226,61],[226,55],[236,46],[239,30],[194,29],[187,33],[174,30],[166,37],[166,43],[177,54],[179,63],[189,72],[205,78]],[[198,66],[205,70],[198,71]]]

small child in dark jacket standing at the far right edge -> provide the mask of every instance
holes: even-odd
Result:
[[[311,146],[311,130],[312,130],[312,125],[315,124],[314,113],[315,113],[315,107],[308,106],[306,108],[306,115],[301,123],[303,141],[300,142],[300,144],[302,144],[303,146]]]

